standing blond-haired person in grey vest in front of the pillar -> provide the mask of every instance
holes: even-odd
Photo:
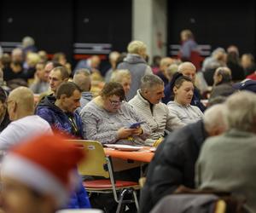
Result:
[[[131,72],[131,89],[126,95],[127,101],[130,101],[140,88],[141,79],[146,74],[152,74],[150,66],[145,60],[147,47],[143,42],[132,41],[129,43],[128,55],[124,61],[118,65],[118,69],[125,69]]]

